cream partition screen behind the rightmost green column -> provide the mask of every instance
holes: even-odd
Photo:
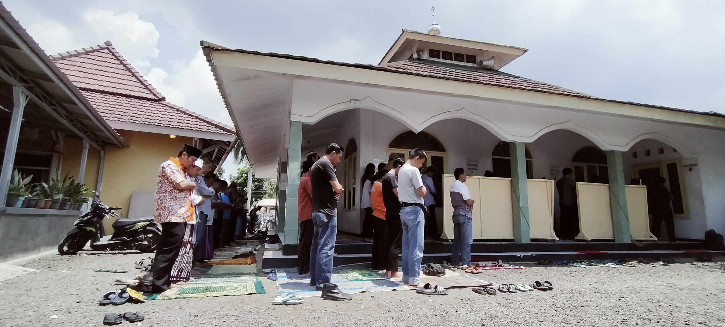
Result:
[[[627,215],[632,239],[655,239],[647,214],[647,187],[626,186]],[[614,239],[609,184],[576,183],[579,204],[577,239]]]

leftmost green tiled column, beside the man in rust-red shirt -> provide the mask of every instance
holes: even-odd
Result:
[[[287,150],[287,187],[284,206],[284,244],[297,244],[297,189],[302,169],[302,122],[289,122],[289,149]]]

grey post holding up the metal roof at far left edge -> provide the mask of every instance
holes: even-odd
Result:
[[[13,86],[12,99],[12,118],[10,119],[10,129],[7,133],[7,142],[5,143],[5,157],[2,162],[2,171],[0,172],[0,207],[5,207],[5,204],[7,204],[7,191],[10,186],[10,177],[12,176],[12,165],[15,162],[17,138],[20,136],[22,112],[25,110],[25,104],[28,104],[28,94],[20,86]]]

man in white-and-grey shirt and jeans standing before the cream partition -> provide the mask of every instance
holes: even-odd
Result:
[[[473,199],[465,186],[465,170],[458,167],[453,172],[455,181],[451,184],[451,205],[453,206],[453,244],[451,263],[471,265],[471,243],[473,243]]]

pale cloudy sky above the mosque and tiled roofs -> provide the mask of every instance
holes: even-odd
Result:
[[[231,124],[199,41],[377,64],[403,28],[520,46],[502,71],[725,112],[725,1],[2,1],[48,54],[111,41],[170,102]]]

